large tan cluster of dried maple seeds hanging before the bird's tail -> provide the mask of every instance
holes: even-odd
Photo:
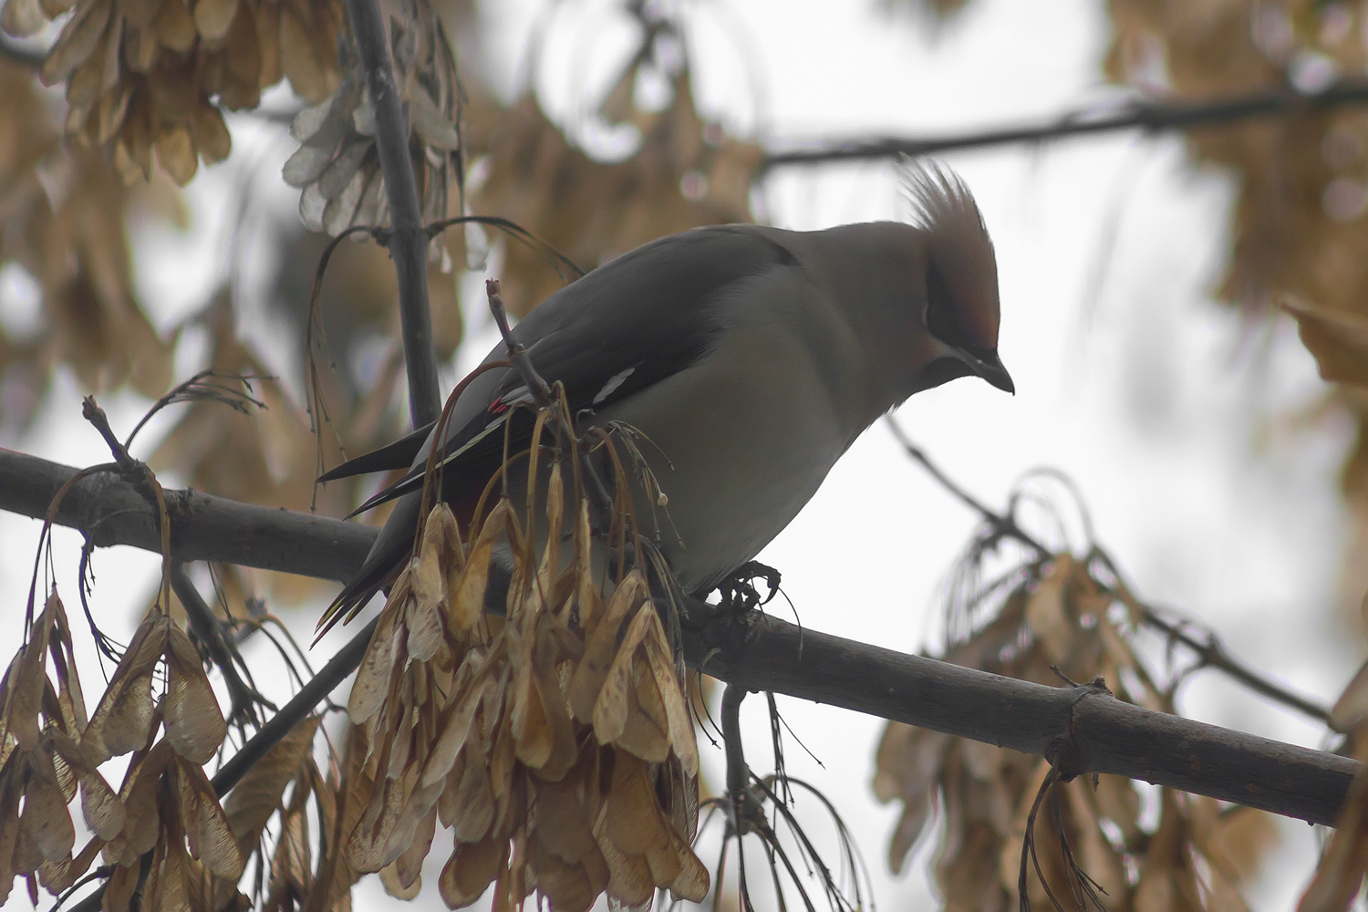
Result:
[[[561,528],[560,472],[550,528]],[[587,502],[561,566],[540,561],[501,500],[462,546],[446,505],[390,592],[349,700],[371,745],[372,782],[346,845],[357,872],[417,890],[436,822],[456,848],[439,890],[451,908],[491,883],[494,908],[538,891],[558,912],[602,894],[642,907],[657,889],[700,901],[709,876],[689,844],[698,748],[673,651],[640,570],[602,598]],[[505,617],[484,611],[490,561],[517,569]]]

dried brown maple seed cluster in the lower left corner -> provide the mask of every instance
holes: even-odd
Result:
[[[153,701],[159,667],[166,669],[166,692]],[[142,622],[88,721],[71,628],[53,593],[10,663],[0,706],[0,900],[15,876],[27,878],[34,902],[38,885],[59,894],[100,853],[112,867],[104,908],[119,912],[129,907],[149,852],[144,908],[182,908],[207,889],[235,898],[242,853],[201,768],[227,725],[200,654],[168,615],[153,613]],[[153,741],[159,727],[166,736]],[[98,766],[130,752],[115,794]],[[93,837],[73,856],[67,804],[78,790]]]

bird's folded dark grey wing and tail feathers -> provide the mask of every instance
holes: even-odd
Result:
[[[637,247],[561,289],[514,327],[513,338],[543,379],[565,386],[572,414],[606,407],[703,357],[722,327],[711,305],[725,299],[720,293],[729,284],[796,265],[784,246],[750,226],[695,228]],[[501,345],[486,361],[502,357]],[[466,387],[442,443],[445,491],[479,496],[502,465],[505,439],[510,453],[527,448],[534,421],[513,406],[529,398],[512,368],[490,371]],[[428,446],[408,476],[361,506],[401,498],[320,626],[343,610],[360,610],[412,552]]]

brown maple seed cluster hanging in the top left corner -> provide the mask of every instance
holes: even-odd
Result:
[[[67,131],[112,149],[130,180],[150,176],[153,150],[182,185],[198,159],[226,159],[220,105],[254,108],[282,77],[321,101],[339,81],[332,0],[10,0],[0,27],[27,36],[68,11],[42,79],[67,81]]]

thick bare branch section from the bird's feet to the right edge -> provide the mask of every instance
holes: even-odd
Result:
[[[1044,756],[1073,737],[1089,773],[1334,824],[1358,763],[1176,715],[1090,688],[1049,688],[906,655],[763,615],[685,637],[689,665],[773,690]]]

